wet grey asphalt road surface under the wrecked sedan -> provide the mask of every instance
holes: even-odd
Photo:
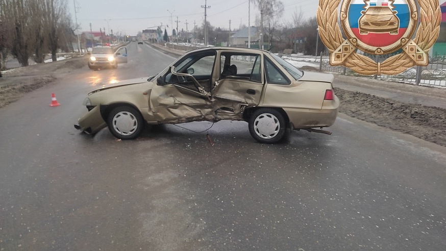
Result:
[[[276,145],[241,121],[80,134],[90,90],[174,60],[128,48],[128,64],[85,66],[0,109],[0,250],[446,248],[446,148],[342,114],[330,136]]]

